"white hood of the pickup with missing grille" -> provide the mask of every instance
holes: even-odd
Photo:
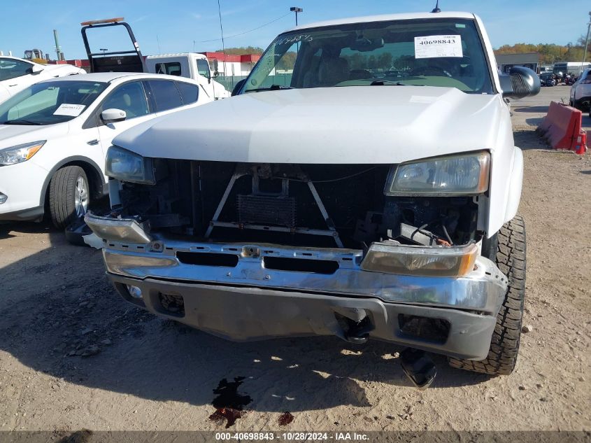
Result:
[[[392,164],[492,148],[499,95],[355,86],[250,92],[137,125],[113,144],[145,157]]]

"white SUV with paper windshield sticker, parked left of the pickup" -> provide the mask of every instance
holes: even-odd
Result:
[[[212,101],[189,78],[90,73],[46,80],[0,104],[0,220],[56,227],[108,193],[105,153],[138,123]]]

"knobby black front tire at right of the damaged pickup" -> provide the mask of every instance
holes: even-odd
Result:
[[[490,349],[484,360],[450,358],[458,369],[490,375],[508,375],[515,369],[521,337],[525,299],[525,223],[522,216],[501,227],[497,234],[496,262],[508,278],[505,300],[497,314]]]

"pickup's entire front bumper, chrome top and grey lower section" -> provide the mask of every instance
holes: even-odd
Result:
[[[507,287],[481,256],[460,277],[401,275],[371,270],[376,260],[361,250],[130,237],[139,225],[129,220],[87,215],[87,223],[105,239],[108,276],[122,297],[227,339],[369,336],[481,360]],[[107,226],[118,234],[105,234]],[[126,240],[142,235],[147,242]],[[387,257],[387,248],[379,252]]]

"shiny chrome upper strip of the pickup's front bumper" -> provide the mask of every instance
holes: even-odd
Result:
[[[101,225],[101,218],[90,218],[88,224],[101,237],[101,230],[96,228]],[[113,220],[109,223],[112,225]],[[361,250],[199,243],[159,234],[150,234],[150,240],[150,243],[131,244],[106,239],[103,251],[108,273],[139,280],[375,297],[383,302],[478,311],[492,316],[499,311],[507,288],[506,276],[493,262],[480,256],[473,270],[462,277],[411,276],[364,270]],[[232,256],[235,265],[188,264],[179,260],[179,253]],[[266,258],[320,260],[336,263],[337,267],[329,274],[268,269]]]

